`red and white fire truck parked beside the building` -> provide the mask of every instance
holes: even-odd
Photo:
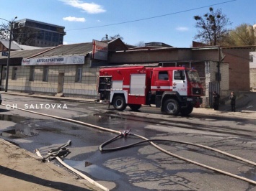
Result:
[[[187,116],[202,103],[203,87],[196,70],[186,67],[103,67],[100,100],[122,111],[155,105],[169,115]]]

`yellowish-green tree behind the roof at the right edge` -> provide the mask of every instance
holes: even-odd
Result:
[[[256,28],[250,24],[240,24],[229,32],[226,40],[229,46],[250,46],[256,45]]]

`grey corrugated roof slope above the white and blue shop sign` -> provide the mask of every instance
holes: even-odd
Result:
[[[62,55],[87,55],[92,51],[92,42],[72,44],[72,45],[59,45],[52,50],[46,51],[43,54],[35,57],[52,57]]]

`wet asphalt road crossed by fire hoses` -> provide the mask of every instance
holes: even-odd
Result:
[[[38,98],[4,95],[4,104],[55,116],[74,118],[108,129],[128,130],[149,139],[172,139],[211,146],[255,162],[255,120],[234,118],[169,117],[162,120],[154,108],[142,108],[141,116],[125,116],[99,103],[59,102]],[[27,104],[27,105],[25,105]],[[37,104],[37,106],[36,106]],[[59,108],[46,106],[61,104]],[[66,105],[66,106],[65,106]],[[44,155],[71,140],[71,154],[64,161],[97,181],[115,183],[113,190],[255,190],[253,185],[183,162],[159,152],[149,144],[141,144],[116,152],[100,152],[99,146],[116,134],[99,131],[54,118],[0,106],[1,138]],[[125,113],[129,112],[128,109]],[[159,116],[158,119],[150,116]],[[140,139],[128,136],[108,147],[131,144]],[[169,152],[180,154],[212,167],[256,180],[255,167],[196,149],[193,146],[159,142]],[[195,152],[197,151],[197,152]],[[211,158],[209,158],[211,157]]]

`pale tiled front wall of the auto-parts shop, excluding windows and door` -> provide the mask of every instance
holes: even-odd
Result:
[[[17,67],[17,80],[12,80],[12,69]],[[90,63],[82,65],[81,82],[76,80],[76,65],[49,65],[48,81],[43,81],[43,65],[35,66],[35,77],[30,81],[30,66],[10,66],[8,90],[18,90],[27,93],[58,93],[58,75],[64,73],[63,94],[78,97],[97,97],[97,67],[90,67]],[[5,88],[5,80],[1,82],[1,89]]]

